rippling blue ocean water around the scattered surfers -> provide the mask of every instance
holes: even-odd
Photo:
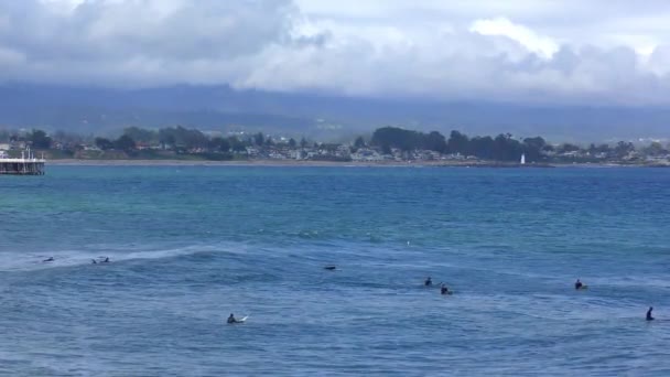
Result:
[[[47,168],[0,375],[670,375],[670,170]]]

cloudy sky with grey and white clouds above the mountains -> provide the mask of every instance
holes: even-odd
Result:
[[[0,0],[0,82],[666,106],[670,1]]]

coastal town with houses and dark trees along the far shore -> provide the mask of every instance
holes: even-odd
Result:
[[[303,161],[350,163],[426,163],[447,165],[626,164],[670,165],[670,144],[661,141],[618,141],[613,144],[553,144],[543,138],[511,134],[469,138],[452,131],[423,133],[397,127],[379,128],[369,138],[320,142],[262,132],[203,132],[171,127],[130,127],[118,138],[82,137],[42,130],[0,131],[0,159],[19,159],[25,150],[54,160],[188,160]]]

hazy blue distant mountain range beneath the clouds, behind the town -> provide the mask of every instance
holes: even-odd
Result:
[[[395,125],[467,134],[543,136],[552,141],[670,138],[670,108],[537,107],[369,99],[236,90],[228,86],[110,89],[0,85],[0,127],[112,133],[182,125],[203,130],[337,139]]]

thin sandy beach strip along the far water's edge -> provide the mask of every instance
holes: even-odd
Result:
[[[552,169],[552,168],[670,168],[670,165],[617,164],[617,163],[542,163],[526,164],[505,162],[463,161],[310,161],[310,160],[48,160],[47,165],[61,166],[348,166],[348,168],[494,168],[494,169]]]

